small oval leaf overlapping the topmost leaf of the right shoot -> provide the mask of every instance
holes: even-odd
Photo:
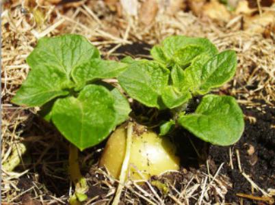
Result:
[[[200,55],[205,51],[202,46],[188,45],[183,49],[179,49],[174,53],[173,60],[180,66],[187,66],[191,63],[194,57]]]

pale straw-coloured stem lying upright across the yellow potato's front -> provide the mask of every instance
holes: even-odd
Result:
[[[126,140],[126,150],[125,150],[125,157],[122,163],[122,167],[120,170],[120,177],[118,183],[118,189],[116,189],[116,196],[114,197],[114,201],[112,205],[118,205],[120,202],[120,195],[123,188],[123,183],[125,182],[127,169],[129,165],[129,160],[131,156],[131,146],[132,146],[132,134],[133,134],[133,123],[129,122],[127,126],[127,140]]]

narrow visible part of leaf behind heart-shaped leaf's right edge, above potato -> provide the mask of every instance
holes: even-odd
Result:
[[[114,96],[114,107],[116,109],[116,125],[125,122],[129,118],[131,107],[125,96],[123,96],[117,88],[114,88],[111,92]]]

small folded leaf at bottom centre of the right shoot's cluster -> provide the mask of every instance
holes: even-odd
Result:
[[[170,109],[173,109],[183,105],[183,103],[192,98],[192,95],[189,91],[179,91],[172,85],[168,85],[164,88],[161,97],[164,105]]]

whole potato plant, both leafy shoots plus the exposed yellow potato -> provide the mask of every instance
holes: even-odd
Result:
[[[76,187],[71,204],[86,200],[88,189],[80,174],[78,149],[95,146],[129,119],[127,98],[103,79],[117,78],[126,94],[141,105],[170,111],[173,117],[161,124],[159,135],[168,135],[182,126],[220,146],[231,145],[241,137],[244,119],[235,98],[208,94],[235,74],[234,51],[218,53],[205,38],[172,36],[150,52],[153,60],[104,60],[86,38],[67,34],[38,40],[27,57],[31,70],[12,102],[40,107],[40,115],[70,142],[68,169]],[[196,111],[188,113],[185,109],[198,95],[205,96]],[[178,169],[179,159],[174,152],[168,138],[146,127],[142,133],[135,132],[130,122],[122,124],[109,138],[101,165],[123,182],[129,163],[145,170],[146,177]],[[136,173],[133,176],[138,178]]]

